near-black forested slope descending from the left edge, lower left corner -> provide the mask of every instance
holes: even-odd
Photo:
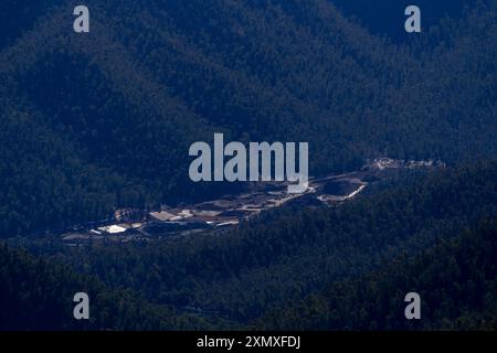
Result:
[[[130,290],[106,288],[92,277],[0,244],[0,331],[181,330],[209,321],[148,303]],[[89,320],[73,317],[77,292],[89,296]]]

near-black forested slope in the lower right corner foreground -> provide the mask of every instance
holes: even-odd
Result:
[[[415,257],[334,284],[257,322],[266,330],[496,330],[497,217]],[[422,319],[404,297],[419,292]]]

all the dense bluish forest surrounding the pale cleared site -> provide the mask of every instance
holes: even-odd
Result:
[[[496,329],[494,0],[417,1],[416,34],[402,1],[84,2],[87,34],[78,2],[0,4],[0,330]],[[214,132],[308,141],[313,176],[380,157],[447,168],[221,235],[49,237],[243,191],[188,178]],[[91,320],[72,315],[78,291]]]

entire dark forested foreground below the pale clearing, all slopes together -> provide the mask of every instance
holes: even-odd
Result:
[[[496,172],[482,162],[416,176],[223,236],[30,246],[50,259],[1,245],[0,329],[495,329]],[[78,291],[88,322],[72,319]],[[403,317],[410,291],[421,321]]]

